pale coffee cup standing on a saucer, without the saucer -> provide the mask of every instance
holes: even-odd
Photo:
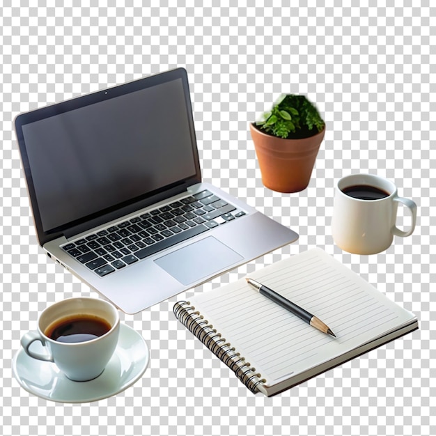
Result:
[[[56,331],[56,326],[59,332],[59,326],[75,320],[100,322],[102,335],[88,335],[85,340],[84,336],[79,336],[82,339],[79,342],[62,342],[63,338],[71,341],[73,337],[68,336],[68,327],[62,327],[65,336],[54,339],[56,335],[50,332]],[[104,371],[114,355],[119,332],[120,317],[111,303],[95,298],[70,298],[42,311],[38,329],[24,334],[21,344],[30,357],[54,362],[70,380],[83,382],[98,377]],[[31,344],[35,341],[42,344],[44,352],[32,350]]]

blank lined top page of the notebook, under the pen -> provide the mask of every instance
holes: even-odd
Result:
[[[278,306],[242,279],[195,296],[196,310],[267,380],[318,366],[398,329],[414,315],[329,256],[312,249],[250,274],[325,322],[337,338]]]

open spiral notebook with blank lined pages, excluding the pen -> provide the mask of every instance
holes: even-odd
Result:
[[[250,274],[318,316],[329,336],[245,279],[174,305],[174,314],[252,392],[273,396],[418,328],[416,316],[316,248]]]

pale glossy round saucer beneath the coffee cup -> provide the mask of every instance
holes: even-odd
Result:
[[[102,375],[73,382],[55,364],[33,359],[21,348],[13,359],[13,374],[31,394],[60,403],[88,403],[119,394],[136,382],[148,366],[150,352],[143,337],[120,325],[118,345]]]

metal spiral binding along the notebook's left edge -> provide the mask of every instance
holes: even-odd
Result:
[[[246,362],[225,338],[221,338],[221,334],[209,324],[208,320],[203,319],[194,306],[185,301],[177,302],[174,304],[173,311],[189,332],[194,334],[228,368],[231,368],[251,392],[256,394],[260,390],[259,385],[265,382],[262,376],[251,368],[249,362]]]

